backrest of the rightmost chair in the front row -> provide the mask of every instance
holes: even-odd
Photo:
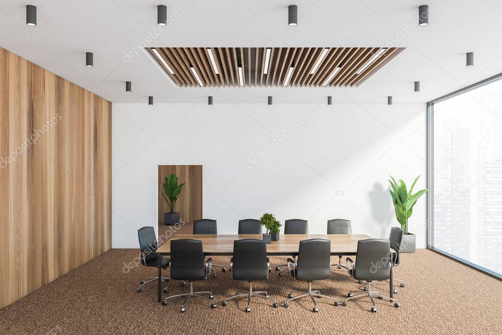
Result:
[[[355,279],[386,280],[391,277],[391,244],[388,240],[368,239],[357,242]]]

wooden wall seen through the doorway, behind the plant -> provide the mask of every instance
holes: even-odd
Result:
[[[167,227],[164,225],[164,213],[169,212],[162,196],[162,184],[171,173],[178,176],[178,183],[186,183],[174,209],[180,213],[180,220],[186,222],[183,233],[191,234],[193,221],[202,218],[202,165],[159,165],[159,235]]]

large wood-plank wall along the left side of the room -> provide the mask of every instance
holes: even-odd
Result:
[[[0,48],[0,308],[111,248],[111,103]]]

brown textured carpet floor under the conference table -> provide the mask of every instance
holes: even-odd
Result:
[[[167,306],[157,303],[157,286],[142,293],[136,288],[142,277],[156,269],[138,266],[124,273],[139,250],[114,249],[80,266],[71,273],[40,288],[0,310],[2,334],[500,334],[502,333],[502,282],[428,250],[405,254],[396,268],[396,278],[406,281],[395,295],[401,307],[377,300],[378,312],[370,313],[364,298],[335,307],[320,299],[319,312],[311,311],[308,299],[282,307],[291,290],[307,284],[273,271],[268,281],[256,282],[281,304],[254,298],[252,311],[245,313],[246,300],[234,300],[222,307],[224,297],[246,289],[247,283],[234,281],[230,273],[219,273],[195,283],[195,290],[213,291],[216,309],[193,299],[180,313],[181,299]],[[218,264],[228,258],[214,257]],[[272,265],[284,257],[273,257]],[[333,262],[335,259],[333,258]],[[169,270],[165,272],[169,274]],[[343,300],[357,283],[338,270],[329,280],[314,283],[324,294]],[[177,281],[169,282],[170,292],[179,293]],[[383,285],[382,289],[387,289]]]

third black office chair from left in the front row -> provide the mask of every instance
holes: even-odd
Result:
[[[330,257],[331,256],[331,241],[323,239],[310,239],[300,241],[298,250],[298,261],[295,263],[291,258],[288,259],[289,273],[295,280],[303,280],[309,283],[308,291],[292,291],[288,294],[288,300],[284,303],[284,307],[289,307],[289,302],[303,297],[310,297],[314,302],[313,312],[319,311],[315,298],[328,298],[334,300],[334,305],[340,303],[334,297],[321,294],[320,291],[312,291],[312,282],[314,280],[329,279]],[[301,293],[293,296],[293,293]]]

